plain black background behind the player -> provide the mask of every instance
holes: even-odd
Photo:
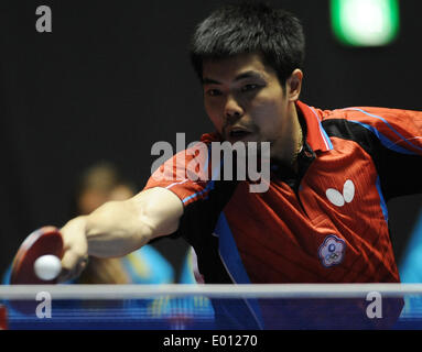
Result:
[[[141,189],[154,142],[212,130],[186,48],[194,25],[224,2],[1,0],[0,271],[32,230],[69,219],[86,167],[110,161]],[[400,1],[400,36],[381,48],[338,44],[327,0],[270,2],[305,26],[304,102],[421,110],[422,1]],[[42,4],[52,9],[53,33],[35,31]],[[421,204],[421,196],[389,204],[398,260]],[[186,250],[167,239],[156,248],[176,267]]]

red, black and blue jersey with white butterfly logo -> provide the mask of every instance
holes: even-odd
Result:
[[[184,204],[175,235],[195,249],[206,283],[400,282],[387,201],[422,193],[422,112],[296,108],[306,135],[299,173],[273,164],[268,191],[250,193],[248,180],[175,180],[194,157],[185,152],[145,188]]]

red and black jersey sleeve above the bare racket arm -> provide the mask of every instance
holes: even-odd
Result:
[[[220,165],[212,165],[209,140],[176,153],[150,177],[145,189],[162,187],[182,201],[184,212],[178,230],[172,237],[183,237],[191,245],[212,234],[218,217],[230,199],[236,182],[216,180]]]

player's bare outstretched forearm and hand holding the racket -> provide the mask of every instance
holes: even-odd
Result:
[[[78,276],[88,255],[122,256],[175,232],[182,215],[177,196],[158,187],[129,200],[106,202],[90,215],[68,221],[61,229],[65,253],[58,280]]]

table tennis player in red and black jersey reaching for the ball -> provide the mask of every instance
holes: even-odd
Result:
[[[191,57],[216,129],[202,141],[270,142],[269,189],[175,182],[185,163],[171,160],[178,164],[164,167],[165,179],[152,175],[130,200],[62,228],[61,279],[79,275],[88,254],[125,255],[182,235],[205,283],[399,283],[386,202],[422,191],[422,112],[301,102],[302,26],[263,4],[213,12],[196,28]]]

